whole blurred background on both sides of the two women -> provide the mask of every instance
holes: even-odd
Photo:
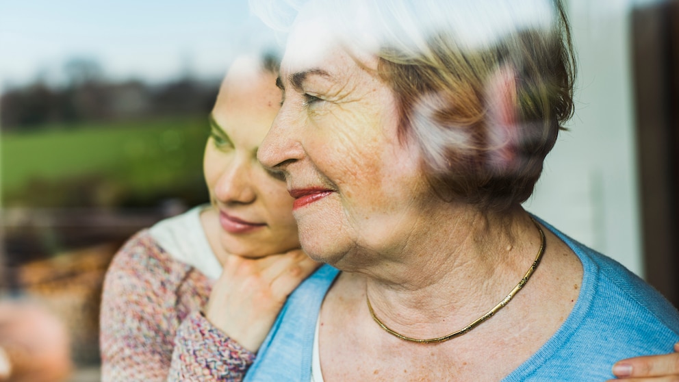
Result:
[[[565,4],[576,114],[526,208],[679,306],[679,2]],[[0,303],[64,324],[71,381],[99,380],[120,244],[207,201],[207,113],[229,62],[275,47],[246,0],[0,0]]]

